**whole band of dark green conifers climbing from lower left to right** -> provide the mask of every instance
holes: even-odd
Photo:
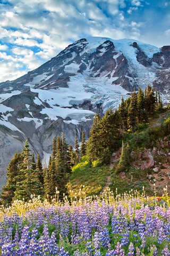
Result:
[[[7,167],[7,183],[2,189],[2,202],[6,204],[23,198],[28,200],[32,194],[52,198],[58,191],[62,198],[67,193],[66,185],[72,167],[80,158],[86,155],[89,162],[99,159],[101,163],[107,164],[113,151],[121,147],[123,133],[136,131],[140,123],[147,123],[148,118],[162,108],[162,99],[157,91],[150,85],[144,92],[139,87],[138,93],[134,91],[130,98],[122,98],[115,111],[107,110],[103,118],[99,114],[95,115],[89,140],[86,142],[82,132],[80,147],[77,137],[74,149],[67,145],[63,133],[54,137],[48,166],[42,165],[39,154],[35,161],[26,140],[22,153],[15,153]]]

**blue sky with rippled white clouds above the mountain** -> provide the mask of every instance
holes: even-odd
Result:
[[[169,0],[0,0],[0,82],[87,36],[170,45]]]

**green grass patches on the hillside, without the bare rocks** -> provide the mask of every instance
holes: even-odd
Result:
[[[154,136],[157,137],[156,140],[158,140],[157,129],[159,129],[160,124],[164,123],[165,118],[169,115],[170,111],[166,109],[163,113],[157,114],[154,118],[150,119],[149,125],[143,125],[138,132],[126,134],[124,139],[130,144],[131,150],[138,154],[145,147],[153,147],[156,142],[154,139],[148,139],[148,131],[152,129],[155,134]],[[161,161],[163,162],[162,156],[159,157],[159,162]],[[116,164],[94,167],[84,158],[77,166],[73,167],[73,172],[67,186],[74,193],[79,193],[79,190],[83,189],[87,196],[99,195],[106,187],[110,187],[113,191],[116,191],[117,188],[118,193],[123,194],[131,189],[137,189],[141,192],[144,186],[148,195],[154,195],[153,186],[151,186],[148,180],[148,175],[151,174],[152,170],[138,170],[130,167],[128,171],[125,170],[125,177],[121,178],[120,174],[115,173],[115,167]]]

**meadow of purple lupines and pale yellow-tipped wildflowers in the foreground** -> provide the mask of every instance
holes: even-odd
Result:
[[[118,195],[57,195],[42,202],[1,206],[0,255],[143,256],[170,255],[170,207],[163,197],[131,190]]]

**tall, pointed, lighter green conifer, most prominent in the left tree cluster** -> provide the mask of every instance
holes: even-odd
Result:
[[[30,153],[28,140],[25,141],[23,151],[23,163],[20,164],[20,172],[16,176],[16,190],[13,199],[30,199],[31,194],[41,195],[42,185],[38,179],[36,170],[32,170],[31,160],[32,154]]]

